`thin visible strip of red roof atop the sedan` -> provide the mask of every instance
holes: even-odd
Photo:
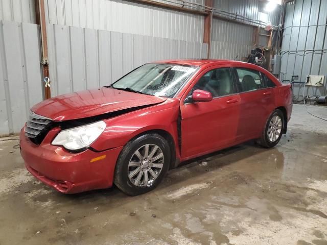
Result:
[[[242,61],[236,60],[219,60],[219,59],[171,59],[171,60],[159,60],[152,63],[171,63],[171,64],[181,64],[181,65],[197,65],[202,66],[208,63],[214,63],[212,65],[220,64],[245,64]],[[247,63],[248,64],[248,63]]]

